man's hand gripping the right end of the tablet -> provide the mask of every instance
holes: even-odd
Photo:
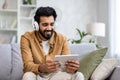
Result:
[[[77,60],[68,60],[65,64],[66,71],[68,73],[75,73],[79,68],[79,61]]]

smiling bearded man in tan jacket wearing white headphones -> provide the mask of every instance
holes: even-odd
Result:
[[[66,37],[54,31],[56,17],[52,7],[38,8],[34,16],[36,30],[22,35],[22,80],[84,80],[82,73],[77,72],[78,61],[68,60],[66,72],[62,72],[60,62],[53,60],[55,55],[70,53]]]

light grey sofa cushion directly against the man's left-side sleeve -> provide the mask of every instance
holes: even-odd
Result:
[[[11,80],[21,80],[23,75],[23,63],[19,44],[11,44],[12,50],[12,72]]]

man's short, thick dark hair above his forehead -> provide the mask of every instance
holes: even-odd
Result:
[[[56,20],[57,14],[55,9],[52,7],[39,7],[35,13],[34,20],[39,23],[41,16],[53,16],[54,20]]]

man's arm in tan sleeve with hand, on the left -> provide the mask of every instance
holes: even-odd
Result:
[[[46,63],[35,64],[33,60],[33,53],[28,38],[21,37],[21,53],[24,63],[24,72],[34,72],[36,74],[45,74],[58,71],[60,67],[59,62],[46,61]]]

